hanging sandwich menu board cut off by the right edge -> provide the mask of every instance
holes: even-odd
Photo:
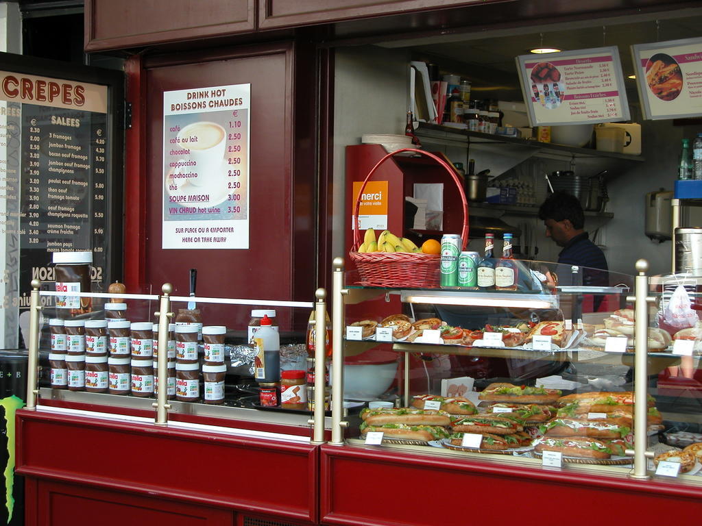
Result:
[[[702,39],[631,46],[646,119],[702,115]]]

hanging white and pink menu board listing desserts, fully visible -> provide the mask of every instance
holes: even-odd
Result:
[[[517,57],[531,126],[629,119],[616,46]]]

